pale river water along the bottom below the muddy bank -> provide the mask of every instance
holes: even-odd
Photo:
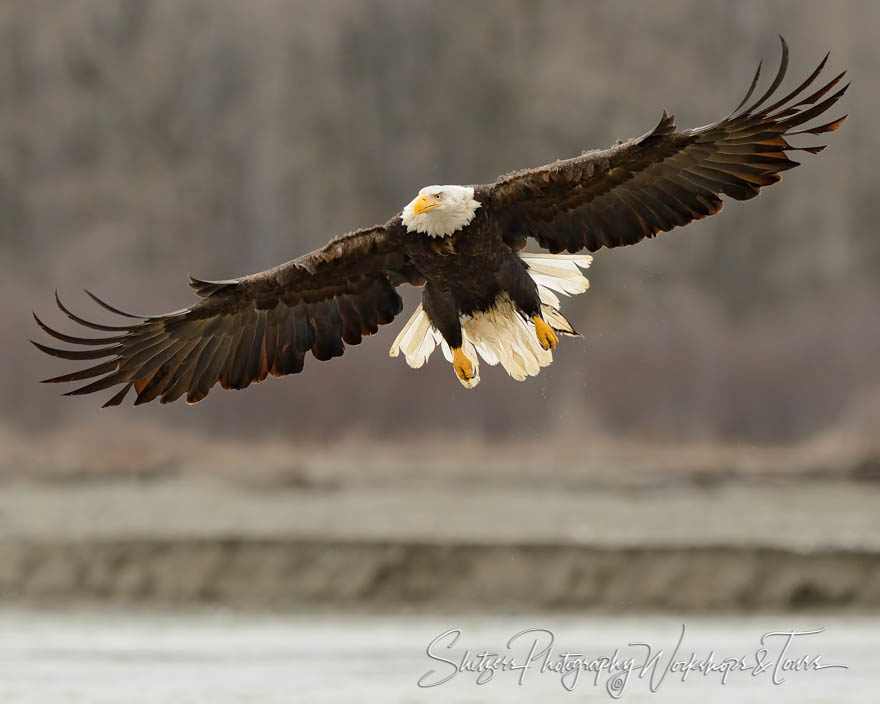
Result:
[[[756,653],[765,633],[819,628],[825,630],[769,636],[766,655]],[[646,645],[628,645],[636,641]],[[616,649],[613,668],[595,672],[603,657],[613,660]],[[479,657],[487,651],[499,658]],[[566,659],[566,651],[582,657]],[[722,672],[697,669],[710,653],[716,666],[736,659],[743,669],[728,672],[722,684]],[[658,654],[653,669],[640,678],[638,665]],[[522,669],[530,657],[530,667]],[[662,678],[670,662],[690,663],[684,681],[674,671],[680,666]],[[462,663],[476,670],[482,665],[482,675],[458,672]],[[562,676],[556,668],[566,663],[568,674]],[[3,704],[611,702],[610,692],[625,702],[840,704],[880,701],[878,673],[876,614],[483,617],[0,610]],[[784,682],[774,683],[774,675]],[[488,681],[477,684],[479,677]],[[420,679],[434,686],[420,687]]]

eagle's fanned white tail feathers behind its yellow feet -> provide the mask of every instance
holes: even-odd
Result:
[[[557,333],[576,336],[578,333],[559,310],[559,297],[554,291],[565,295],[586,291],[590,282],[580,270],[588,268],[593,258],[582,254],[520,254],[520,258],[538,285],[544,320]],[[507,296],[500,297],[484,313],[462,316],[461,333],[462,352],[474,365],[473,379],[460,380],[469,389],[480,383],[481,357],[492,366],[500,363],[517,381],[535,376],[553,361],[553,352],[538,342],[535,324]],[[406,363],[418,369],[438,345],[447,361],[452,362],[452,350],[419,305],[391,345],[390,354],[397,357],[403,352]]]

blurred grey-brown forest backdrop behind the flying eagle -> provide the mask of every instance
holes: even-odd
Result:
[[[113,428],[381,441],[560,436],[675,443],[862,440],[880,421],[880,3],[6,0],[0,5],[0,439]],[[406,312],[305,373],[194,407],[98,409],[37,380],[30,311],[58,289],[122,309],[190,304],[189,273],[274,266],[383,222],[433,183],[726,115],[755,65],[785,85],[827,50],[850,118],[754,201],[600,251],[564,302],[582,340],[525,383],[465,392],[435,355],[389,359]],[[766,84],[765,84],[766,85]],[[837,117],[837,114],[829,117]],[[85,436],[83,436],[85,437]],[[90,436],[94,440],[94,435]],[[89,442],[92,442],[89,440]]]

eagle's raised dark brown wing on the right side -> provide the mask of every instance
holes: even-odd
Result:
[[[788,67],[788,46],[780,40],[782,60],[770,87],[743,107],[758,83],[759,65],[745,98],[720,122],[676,131],[673,118],[664,112],[657,126],[641,137],[517,171],[484,186],[481,190],[488,191],[503,219],[505,241],[520,250],[532,236],[553,253],[634,244],[714,215],[721,210],[722,194],[746,200],[779,181],[782,171],[798,166],[786,155],[795,148],[785,137],[837,129],[846,115],[795,131],[834,105],[849,86],[825,97],[843,78],[841,73],[804,95],[825,67],[826,54],[795,90],[765,105]],[[814,154],[822,149],[802,148]]]

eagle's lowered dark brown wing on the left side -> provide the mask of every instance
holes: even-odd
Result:
[[[310,350],[320,360],[338,357],[345,344],[358,344],[401,311],[397,285],[424,283],[406,259],[399,237],[400,228],[392,220],[259,274],[229,281],[191,278],[201,300],[166,315],[124,313],[89,294],[111,312],[133,319],[126,325],[80,318],[56,295],[58,307],[74,322],[110,335],[65,335],[35,315],[52,337],[87,348],[66,350],[34,342],[43,352],[76,361],[104,360],[46,381],[99,377],[67,395],[121,384],[105,406],[120,404],[132,387],[135,404],[156,398],[167,403],[183,394],[187,402],[196,403],[218,381],[227,389],[243,389],[269,374],[296,374]]]

